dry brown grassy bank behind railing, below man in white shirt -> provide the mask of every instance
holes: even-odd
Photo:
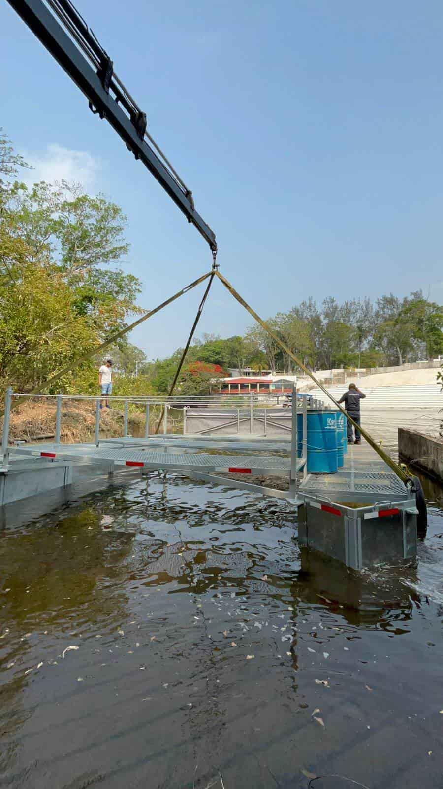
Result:
[[[102,409],[100,434],[106,438],[123,435],[123,411],[116,408]],[[140,431],[144,424],[142,413],[128,415],[128,432]],[[63,402],[61,408],[61,441],[73,443],[88,441],[95,434],[95,403],[81,400]],[[35,400],[24,402],[11,412],[9,441],[35,441],[54,438],[55,403]]]

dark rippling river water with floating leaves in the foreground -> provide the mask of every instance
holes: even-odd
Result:
[[[363,574],[300,552],[289,503],[173,474],[21,503],[0,532],[0,785],[442,787],[427,493],[417,566]]]

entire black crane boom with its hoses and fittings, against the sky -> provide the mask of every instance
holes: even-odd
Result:
[[[136,106],[120,80],[114,77],[113,62],[69,0],[53,0],[50,5],[60,6],[61,19],[66,21],[65,27],[80,42],[93,65],[42,0],[8,2],[84,93],[91,110],[98,113],[100,118],[106,118],[136,159],[141,159],[169,197],[172,197],[188,222],[192,222],[199,230],[213,253],[217,252],[215,234],[195,211],[192,193],[184,187],[175,171],[171,172],[147,144],[144,139],[146,115]],[[94,70],[94,64],[97,65],[97,71]],[[110,90],[114,92],[115,98],[110,95]]]

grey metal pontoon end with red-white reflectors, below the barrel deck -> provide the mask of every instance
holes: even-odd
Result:
[[[415,559],[419,514],[415,498],[361,507],[314,495],[303,494],[300,498],[300,546],[315,548],[355,570]]]

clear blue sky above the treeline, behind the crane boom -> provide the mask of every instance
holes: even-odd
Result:
[[[439,0],[76,5],[259,314],[420,287],[443,301]],[[128,215],[140,304],[207,271],[206,242],[7,3],[0,63],[0,125],[36,176],[84,181]],[[183,345],[198,301],[195,290],[132,342],[150,358]],[[199,331],[250,323],[216,283]]]

